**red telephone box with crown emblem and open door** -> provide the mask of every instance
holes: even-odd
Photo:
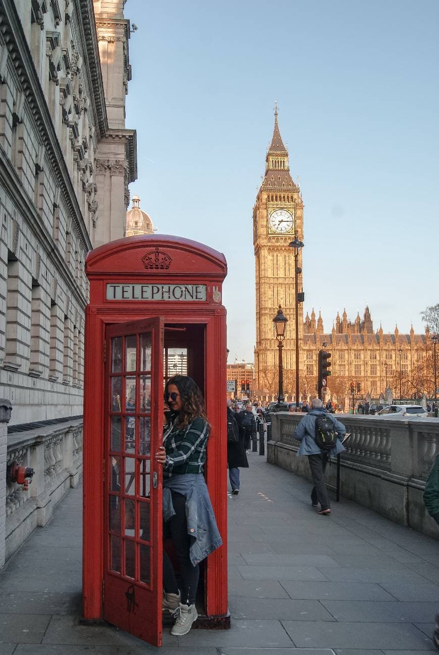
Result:
[[[190,375],[211,433],[206,482],[223,546],[200,576],[198,621],[229,627],[227,609],[224,255],[147,234],[88,254],[85,321],[83,616],[159,646],[162,639],[163,386]]]

